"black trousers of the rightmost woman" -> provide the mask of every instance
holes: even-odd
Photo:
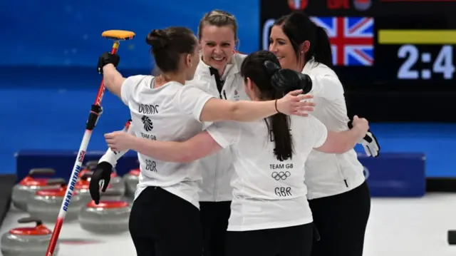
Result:
[[[366,181],[358,188],[326,198],[309,200],[321,239],[311,256],[361,256],[371,213],[371,194]]]

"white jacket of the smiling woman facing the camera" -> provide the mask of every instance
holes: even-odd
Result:
[[[217,98],[229,101],[248,101],[244,91],[244,83],[241,76],[241,64],[246,55],[234,53],[232,60],[225,68],[222,80],[222,91],[217,89],[215,76],[211,75],[209,66],[199,61],[195,78],[186,83],[197,86],[203,91]],[[204,123],[204,129],[211,123]],[[201,165],[202,180],[199,181],[199,201],[218,202],[232,200],[232,187],[229,185],[234,173],[232,153],[229,148],[222,149],[218,153],[209,155],[199,160]]]

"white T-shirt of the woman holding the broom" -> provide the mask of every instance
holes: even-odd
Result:
[[[183,141],[202,130],[199,122],[211,95],[192,86],[169,82],[154,88],[154,76],[130,76],[123,82],[121,98],[130,108],[135,135],[162,141]],[[148,186],[161,187],[199,208],[199,163],[170,163],[138,153],[139,183],[135,199]]]

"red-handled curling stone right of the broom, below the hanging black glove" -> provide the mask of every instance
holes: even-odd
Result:
[[[115,190],[106,190],[101,195],[119,197]],[[100,200],[98,205],[92,200],[79,212],[79,224],[83,230],[98,234],[116,234],[128,231],[131,205],[123,200]]]

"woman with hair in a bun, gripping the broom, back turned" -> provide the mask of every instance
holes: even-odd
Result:
[[[159,76],[124,78],[115,68],[120,59],[116,54],[103,53],[98,61],[106,88],[130,108],[138,138],[187,140],[202,130],[204,121],[257,121],[278,112],[306,116],[302,100],[308,97],[299,95],[300,90],[271,101],[234,102],[184,86],[199,63],[199,42],[190,29],[154,29],[146,42]],[[168,163],[142,153],[138,158],[139,184],[129,222],[138,256],[200,256],[197,162]],[[90,193],[97,189],[91,182]]]

